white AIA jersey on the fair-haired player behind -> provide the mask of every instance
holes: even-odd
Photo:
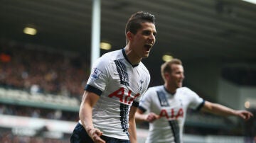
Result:
[[[178,88],[172,95],[164,86],[154,86],[146,91],[139,103],[144,112],[156,113],[161,118],[149,123],[146,143],[181,143],[188,108],[199,109],[203,98],[186,87]]]

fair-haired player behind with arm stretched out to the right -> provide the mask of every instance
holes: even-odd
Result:
[[[139,103],[136,120],[149,122],[146,143],[181,143],[186,110],[193,108],[216,115],[235,115],[244,120],[252,117],[246,110],[233,110],[217,103],[204,101],[191,89],[182,87],[184,79],[180,59],[161,65],[164,85],[149,88]],[[144,114],[148,110],[149,114]]]

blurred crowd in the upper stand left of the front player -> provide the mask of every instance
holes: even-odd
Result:
[[[1,45],[0,85],[31,92],[78,96],[89,65],[82,56],[23,45]]]

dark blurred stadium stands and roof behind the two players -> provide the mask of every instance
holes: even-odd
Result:
[[[95,1],[0,1],[0,142],[70,142],[93,50],[100,56],[124,47],[125,24],[137,11],[156,16],[156,44],[142,61],[151,74],[149,86],[163,84],[160,65],[179,58],[184,86],[205,100],[256,115],[255,4]],[[92,11],[100,13],[97,23]],[[143,142],[148,124],[137,127]],[[256,142],[255,130],[255,118],[243,122],[188,110],[184,142]]]

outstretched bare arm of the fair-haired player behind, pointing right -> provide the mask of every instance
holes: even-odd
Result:
[[[218,103],[210,103],[208,101],[205,102],[202,110],[208,113],[213,113],[215,115],[222,115],[222,116],[235,115],[244,120],[249,120],[253,116],[252,113],[250,113],[247,110],[234,110],[224,105],[220,105]]]

